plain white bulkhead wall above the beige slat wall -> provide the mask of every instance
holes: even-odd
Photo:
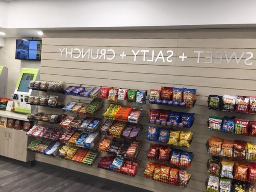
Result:
[[[255,7],[255,0],[19,0],[9,2],[7,27],[248,26]]]

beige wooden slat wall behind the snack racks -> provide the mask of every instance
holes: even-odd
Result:
[[[143,143],[139,158],[142,159],[141,168],[136,178],[122,176],[100,170],[96,165],[85,167],[58,158],[49,158],[37,154],[36,160],[86,172],[103,178],[116,180],[130,185],[138,186],[157,192],[175,190],[177,192],[205,191],[204,182],[208,177],[206,162],[210,155],[206,151],[206,141],[212,135],[222,138],[241,139],[255,142],[256,140],[247,136],[224,134],[207,130],[206,121],[209,115],[233,116],[230,112],[217,112],[206,108],[206,100],[209,94],[237,94],[255,96],[256,76],[256,29],[214,29],[214,30],[147,30],[147,31],[44,31],[42,39],[42,60],[41,80],[63,81],[65,86],[87,85],[87,86],[108,86],[122,87],[139,90],[159,89],[160,86],[177,86],[197,89],[196,106],[192,109],[172,108],[182,112],[196,113],[196,120],[190,130],[194,132],[194,140],[190,151],[195,157],[188,172],[192,173],[192,179],[188,188],[182,189],[160,182],[148,180],[143,177],[143,169],[146,165],[145,151],[149,148],[150,142],[145,140],[146,134],[141,134],[139,140]],[[128,55],[124,60],[116,56],[114,60],[88,60],[74,58],[60,58],[59,48],[111,48],[116,54],[122,51]],[[133,60],[131,50],[173,50],[173,62],[142,62],[142,54],[139,54],[137,61]],[[231,54],[233,51],[252,52],[254,62],[251,66],[245,66],[242,59],[239,65],[232,59],[226,64],[223,54],[223,64],[204,64],[205,59],[201,58],[196,63],[194,50],[204,51],[226,51]],[[184,62],[178,57],[182,53],[189,57]],[[95,53],[95,52],[94,52]],[[42,93],[43,94],[43,93]],[[66,102],[76,101],[80,98],[65,96]],[[83,99],[89,102],[88,99]],[[108,102],[104,100],[104,109]],[[128,104],[124,102],[124,104]],[[149,108],[164,108],[168,106],[157,106],[146,104]],[[42,111],[47,111],[41,108]],[[53,110],[53,112],[60,112]],[[102,113],[99,114],[99,116]],[[236,114],[238,118],[256,120],[253,115]],[[147,119],[142,120],[144,130],[147,130]]]

